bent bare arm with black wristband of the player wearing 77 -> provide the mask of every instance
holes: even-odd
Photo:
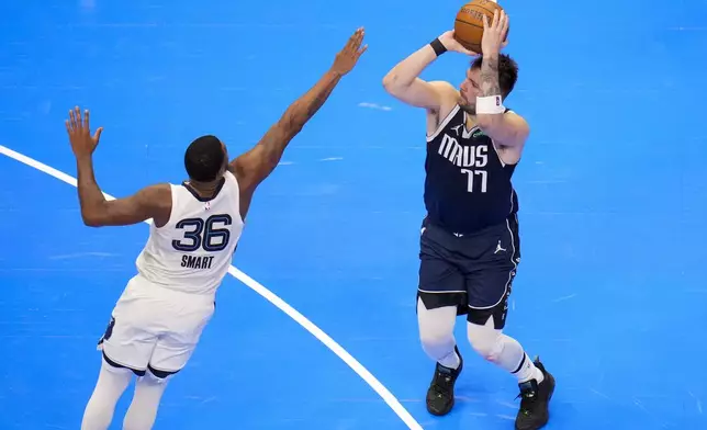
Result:
[[[433,112],[439,111],[445,104],[453,105],[459,92],[449,82],[428,82],[418,78],[427,66],[447,50],[476,55],[454,39],[453,31],[448,31],[395,65],[383,78],[385,91],[404,103]]]

